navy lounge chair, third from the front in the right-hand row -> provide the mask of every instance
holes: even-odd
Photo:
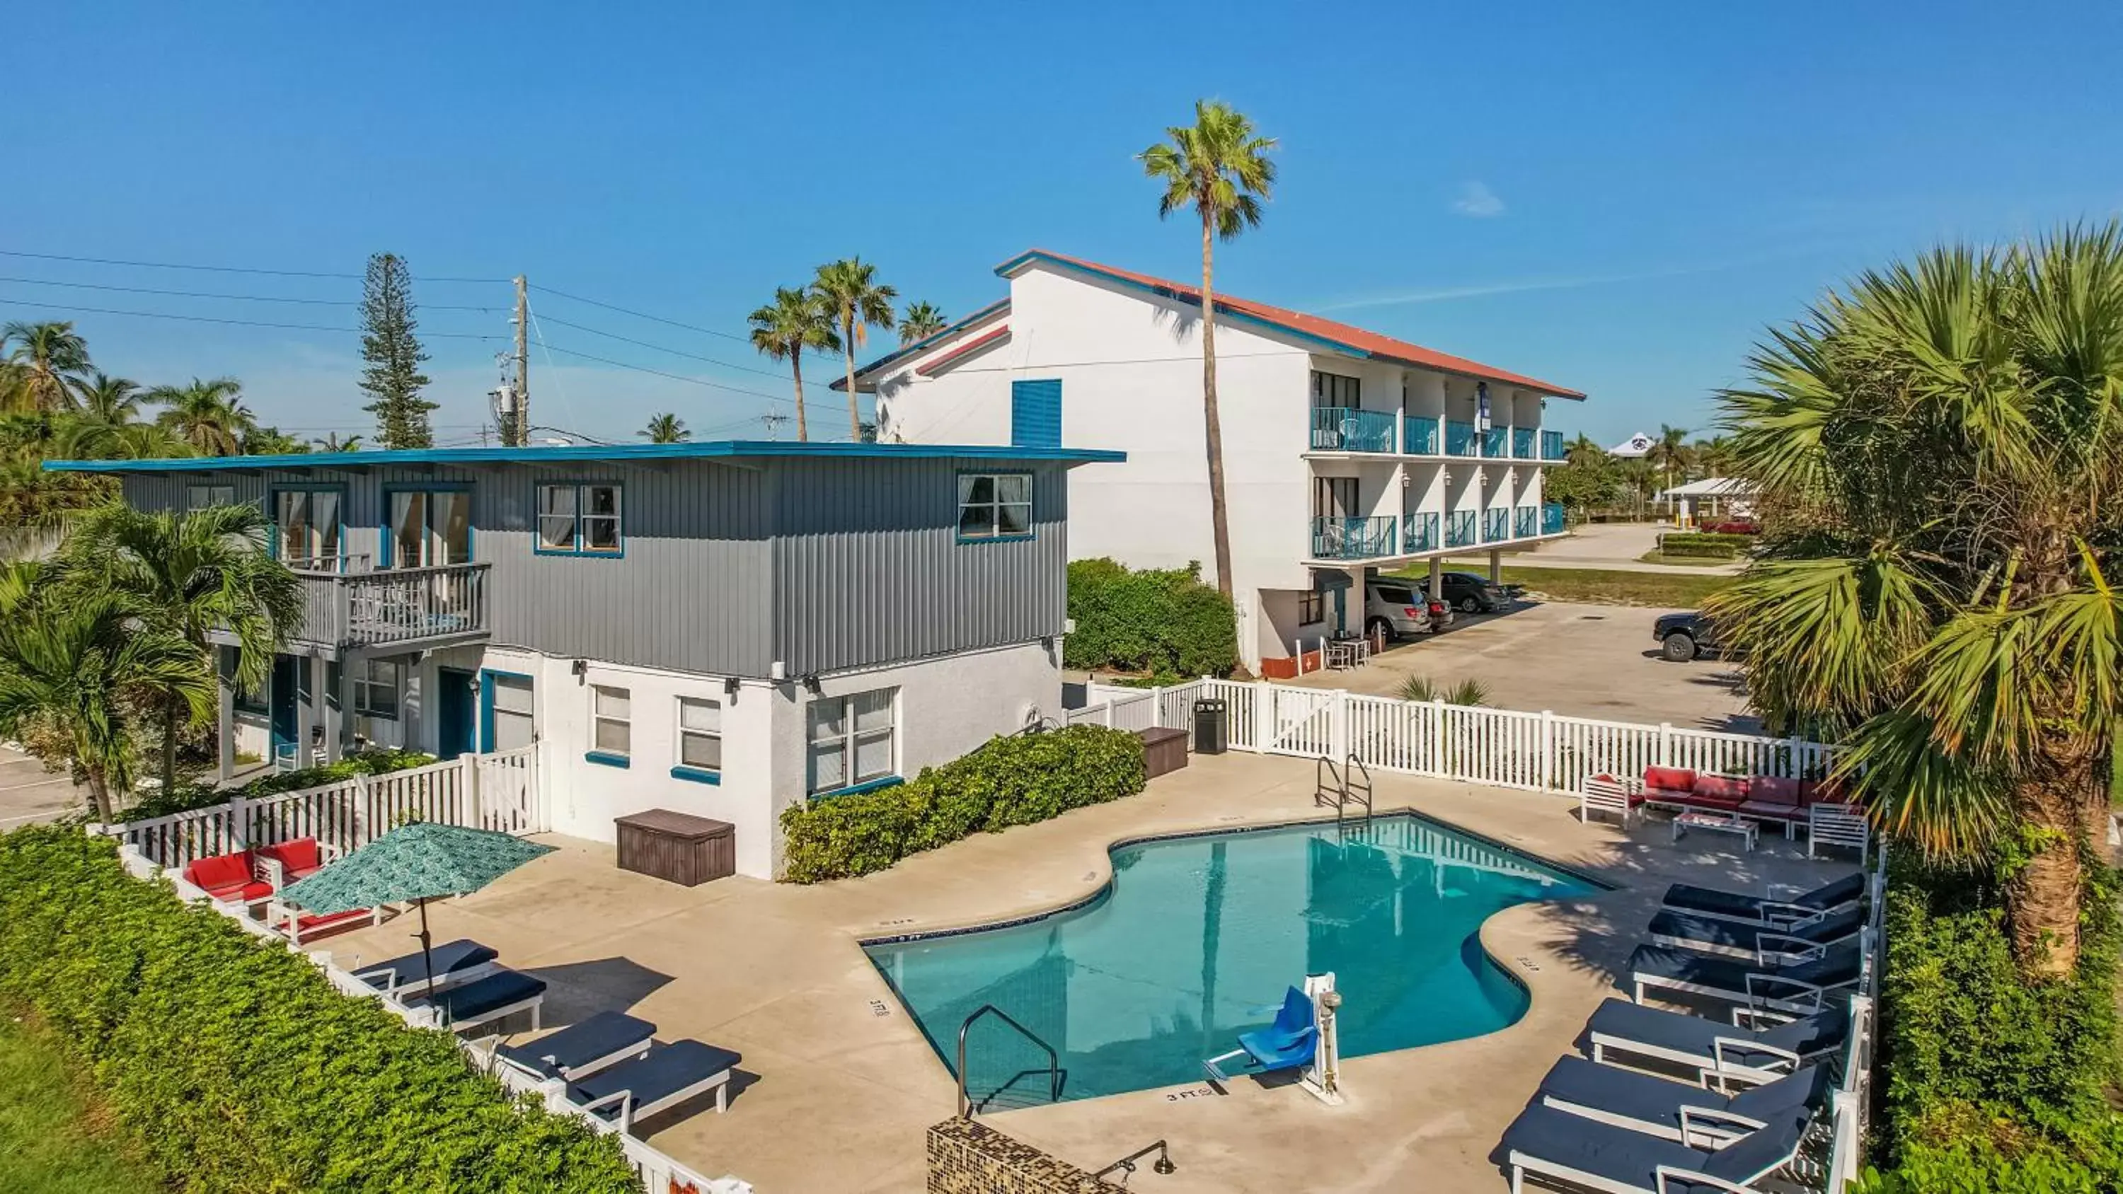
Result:
[[[1696,1071],[1696,1082],[1728,1090],[1739,1084],[1775,1082],[1798,1067],[1834,1054],[1849,1041],[1849,1005],[1800,1016],[1783,1024],[1745,1029],[1645,1007],[1626,999],[1609,999],[1586,1022],[1586,1043],[1592,1060],[1607,1065],[1611,1054],[1647,1058]]]

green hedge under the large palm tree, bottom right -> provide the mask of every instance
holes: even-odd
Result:
[[[1881,971],[1872,1194],[2123,1190],[2117,884],[2087,859],[2078,973],[2027,982],[1993,872],[1898,855]]]

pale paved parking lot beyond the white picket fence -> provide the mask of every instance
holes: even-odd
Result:
[[[1652,621],[1660,613],[1671,611],[1520,600],[1509,611],[1454,615],[1450,630],[1393,643],[1363,668],[1295,683],[1393,696],[1408,677],[1478,679],[1497,708],[1760,734],[1737,668],[1658,657]]]

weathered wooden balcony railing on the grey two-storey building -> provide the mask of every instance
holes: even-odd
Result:
[[[304,602],[297,636],[310,643],[380,647],[486,634],[486,564],[295,575]]]

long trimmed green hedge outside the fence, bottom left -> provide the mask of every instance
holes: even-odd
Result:
[[[510,1101],[450,1035],[123,872],[110,840],[0,836],[0,1005],[38,1014],[187,1194],[639,1194],[614,1137]]]

